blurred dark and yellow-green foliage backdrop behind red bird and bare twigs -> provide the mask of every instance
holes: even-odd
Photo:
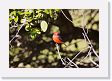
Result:
[[[62,58],[73,59],[77,53],[88,47],[88,42],[85,42],[82,35],[82,13],[86,14],[84,22],[87,35],[99,55],[99,10],[10,9],[9,67],[63,68],[64,65],[52,40],[53,32],[59,32],[67,45],[67,47],[64,44],[59,45]],[[88,49],[83,50],[73,62],[79,68],[95,67],[89,57],[85,58],[87,54]],[[94,53],[91,58],[99,64]]]

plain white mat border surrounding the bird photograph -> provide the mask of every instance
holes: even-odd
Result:
[[[2,77],[109,77],[107,0],[4,0],[0,14],[0,74]],[[99,9],[99,68],[9,68],[9,9]]]

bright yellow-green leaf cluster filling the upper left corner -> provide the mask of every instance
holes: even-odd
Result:
[[[60,9],[10,9],[9,25],[10,27],[25,24],[25,31],[28,32],[31,39],[37,35],[46,32],[50,22],[57,19]]]

